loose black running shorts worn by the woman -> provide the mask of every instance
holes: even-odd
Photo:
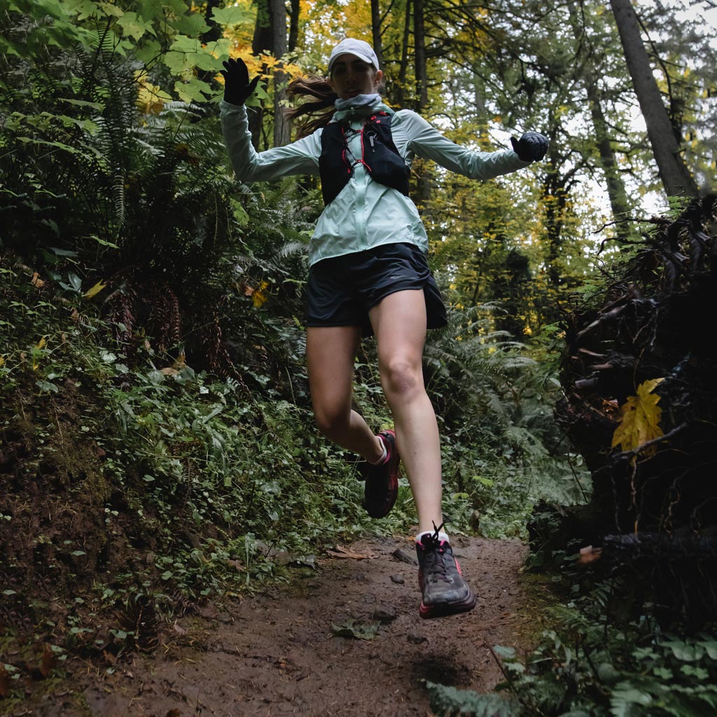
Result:
[[[323,259],[309,269],[306,324],[360,326],[362,336],[372,336],[369,309],[405,289],[423,289],[427,328],[446,325],[440,290],[426,256],[414,244],[383,244]]]

